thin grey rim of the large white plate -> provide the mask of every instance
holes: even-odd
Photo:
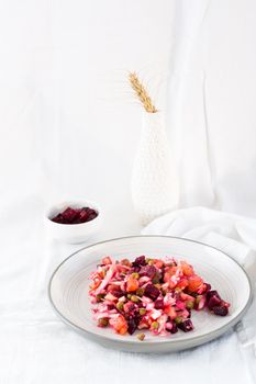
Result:
[[[231,259],[231,261],[233,261],[240,269],[241,269],[241,272],[244,273],[246,280],[247,280],[247,283],[248,283],[248,287],[249,287],[249,294],[248,294],[248,298],[247,298],[247,302],[244,306],[244,308],[233,318],[231,319],[230,321],[227,321],[224,326],[222,326],[221,328],[218,328],[215,330],[212,330],[210,331],[209,334],[207,335],[201,335],[201,336],[193,336],[189,339],[183,339],[183,340],[169,340],[169,339],[166,339],[166,340],[163,340],[162,341],[151,341],[148,343],[144,343],[144,346],[147,346],[148,348],[149,347],[159,347],[159,346],[166,346],[166,345],[169,345],[171,347],[171,343],[174,343],[174,351],[178,350],[176,349],[176,345],[175,345],[175,341],[178,342],[179,345],[188,345],[189,342],[191,343],[190,346],[188,346],[187,348],[192,348],[192,347],[196,347],[198,346],[197,341],[200,341],[200,339],[204,340],[202,343],[204,342],[209,342],[211,341],[212,339],[214,338],[218,338],[220,336],[222,336],[225,331],[227,331],[231,327],[235,326],[240,319],[244,316],[244,314],[247,312],[247,309],[249,308],[251,306],[251,303],[252,303],[252,300],[253,300],[253,284],[252,284],[252,281],[247,274],[247,272],[245,271],[245,269],[235,260],[233,259],[229,253],[222,251],[221,249],[216,248],[216,247],[213,247],[213,246],[210,246],[205,242],[201,242],[201,241],[198,241],[198,240],[192,240],[192,239],[189,239],[189,238],[185,238],[185,237],[178,237],[178,236],[165,236],[165,235],[134,235],[134,236],[122,236],[122,237],[116,237],[116,238],[112,238],[112,239],[108,239],[108,240],[102,240],[102,241],[97,241],[97,242],[93,242],[93,244],[90,244],[89,246],[85,246],[78,250],[76,250],[75,252],[73,252],[71,255],[69,255],[67,258],[65,258],[56,268],[55,270],[53,271],[52,275],[51,275],[51,279],[48,281],[48,287],[47,287],[47,295],[48,295],[48,300],[49,300],[49,303],[53,307],[53,309],[55,310],[55,313],[60,317],[60,319],[67,324],[68,326],[70,326],[71,328],[74,328],[76,331],[78,332],[81,332],[81,334],[86,334],[88,337],[90,338],[94,338],[94,339],[98,339],[98,340],[104,340],[107,342],[112,342],[112,343],[116,343],[116,345],[120,345],[120,347],[124,347],[125,345],[129,345],[129,346],[141,346],[140,343],[137,343],[135,340],[126,340],[126,339],[111,339],[104,335],[98,335],[98,334],[94,334],[93,331],[90,331],[90,330],[87,330],[85,328],[81,328],[80,326],[76,325],[75,323],[73,323],[71,320],[69,320],[68,318],[66,318],[62,312],[58,310],[58,308],[56,307],[55,303],[54,303],[54,300],[52,297],[52,283],[53,283],[53,280],[56,275],[56,273],[58,272],[58,270],[62,268],[62,266],[67,262],[69,259],[71,259],[74,256],[76,256],[77,253],[81,252],[82,250],[85,249],[89,249],[89,248],[92,248],[92,247],[96,247],[98,245],[102,245],[102,244],[105,244],[105,242],[111,242],[111,241],[116,241],[116,240],[124,240],[124,239],[132,239],[132,238],[145,238],[145,237],[158,237],[158,238],[171,238],[171,239],[178,239],[178,240],[183,240],[183,241],[188,241],[188,242],[193,242],[193,244],[199,244],[201,246],[204,246],[204,247],[209,247],[211,249],[214,249],[214,250],[218,250],[219,252],[223,253],[224,256],[226,256],[229,259]],[[196,342],[196,345],[194,345]],[[186,347],[181,348],[180,349],[187,349]]]

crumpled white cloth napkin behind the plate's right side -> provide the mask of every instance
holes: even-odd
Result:
[[[213,246],[241,263],[256,292],[256,221],[204,207],[169,213],[152,222],[143,235],[178,236]],[[241,351],[256,380],[256,301],[234,328]]]

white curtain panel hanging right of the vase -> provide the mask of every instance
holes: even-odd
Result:
[[[256,215],[254,1],[177,1],[169,128],[180,206]]]

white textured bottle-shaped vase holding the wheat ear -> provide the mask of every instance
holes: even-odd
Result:
[[[142,225],[147,225],[178,204],[178,182],[159,112],[143,114],[142,137],[132,174],[132,199]]]

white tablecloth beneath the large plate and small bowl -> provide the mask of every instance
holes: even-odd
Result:
[[[79,246],[45,237],[43,205],[29,199],[5,210],[1,228],[0,382],[4,384],[253,383],[237,335],[175,354],[107,350],[68,328],[47,298],[54,268]],[[24,215],[24,216],[23,216]],[[109,217],[111,223],[111,217]],[[108,226],[104,237],[134,234]],[[131,226],[131,228],[134,226]],[[138,228],[137,228],[138,233]],[[232,355],[232,359],[231,359]]]

